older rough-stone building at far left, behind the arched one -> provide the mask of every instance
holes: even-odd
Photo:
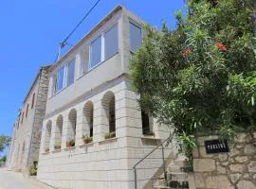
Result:
[[[38,162],[43,118],[46,113],[48,71],[41,67],[19,110],[9,146],[8,166],[28,174],[28,167]]]

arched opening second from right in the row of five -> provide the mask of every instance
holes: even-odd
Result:
[[[93,137],[93,111],[93,103],[91,101],[87,102],[83,107],[83,136]]]

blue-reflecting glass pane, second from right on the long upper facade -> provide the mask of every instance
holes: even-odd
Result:
[[[90,58],[90,68],[101,62],[101,36],[91,43]]]

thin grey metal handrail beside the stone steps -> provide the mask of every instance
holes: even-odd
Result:
[[[165,165],[165,160],[164,160],[164,146],[163,144],[165,144],[167,141],[171,141],[173,139],[173,136],[169,136],[167,139],[165,139],[161,144],[159,144],[158,146],[156,146],[151,152],[149,152],[144,158],[142,158],[141,160],[139,160],[134,166],[134,174],[135,174],[135,189],[137,189],[137,164],[143,162],[147,157],[149,157],[159,146],[162,146],[162,161],[163,161],[163,169],[164,169],[164,180],[165,182],[167,181],[167,174],[166,174],[166,165]]]

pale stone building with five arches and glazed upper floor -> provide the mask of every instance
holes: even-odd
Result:
[[[133,166],[169,136],[140,110],[128,77],[143,24],[118,6],[52,66],[38,180],[58,188],[135,188]],[[152,187],[161,154],[137,170],[137,188]]]

